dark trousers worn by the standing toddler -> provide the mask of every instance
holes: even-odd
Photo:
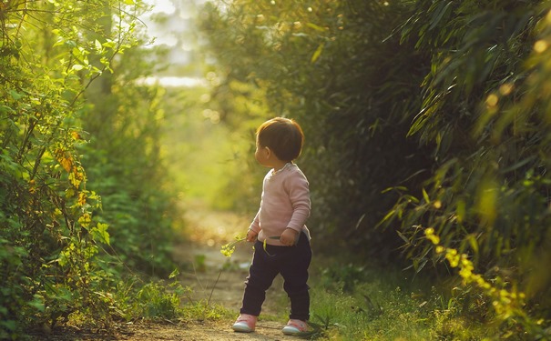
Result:
[[[310,318],[310,288],[308,267],[311,262],[311,247],[308,236],[301,233],[296,246],[264,246],[261,242],[254,245],[254,255],[245,281],[245,293],[241,314],[259,316],[266,290],[273,279],[281,274],[283,288],[291,300],[289,318],[306,321]]]

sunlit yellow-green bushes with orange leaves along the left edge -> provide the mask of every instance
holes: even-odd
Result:
[[[100,327],[112,321],[114,305],[108,293],[120,275],[105,250],[112,253],[121,241],[109,226],[115,221],[99,214],[102,209],[111,212],[97,194],[104,188],[96,185],[96,179],[88,181],[88,176],[100,176],[95,172],[99,165],[90,167],[90,173],[83,166],[96,155],[87,144],[95,136],[83,130],[83,118],[86,123],[92,113],[88,91],[96,82],[105,82],[119,55],[132,55],[138,44],[133,38],[136,17],[131,14],[139,7],[125,3],[0,4],[2,339],[23,337],[36,326],[55,326],[73,314],[87,316]],[[126,96],[148,98],[126,90]],[[128,102],[122,105],[131,111]],[[157,113],[148,111],[151,116]],[[147,125],[151,116],[146,115],[141,124]],[[151,135],[144,137],[148,142]],[[140,156],[151,156],[146,171],[152,172],[158,151],[155,145],[144,145],[150,153]],[[146,191],[143,196],[149,195]],[[151,226],[162,221],[156,226],[166,230],[166,201],[154,199],[151,195],[151,202],[142,201],[142,206],[131,209],[147,215]],[[108,196],[107,202],[111,204]],[[124,204],[135,205],[133,198]],[[166,234],[157,231],[135,236],[124,245],[143,247],[144,239],[157,242],[153,251],[168,245]]]

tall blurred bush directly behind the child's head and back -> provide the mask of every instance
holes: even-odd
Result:
[[[393,35],[407,6],[238,1],[205,11],[203,28],[221,65],[222,86],[258,86],[269,108],[264,117],[287,115],[303,125],[306,144],[298,162],[312,185],[310,224],[319,242],[346,230],[349,243],[363,249],[383,241],[389,250],[398,246],[395,235],[371,227],[395,199],[381,191],[409,184],[426,164],[405,137],[428,70],[423,54]]]

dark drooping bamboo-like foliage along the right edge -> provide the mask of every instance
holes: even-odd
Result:
[[[429,230],[423,226],[430,226],[445,247],[472,258],[486,280],[528,293],[531,316],[494,308],[498,320],[539,337],[536,325],[549,318],[543,297],[551,278],[535,269],[538,259],[549,259],[551,131],[546,48],[537,44],[549,37],[549,6],[465,2],[449,5],[454,19],[440,23],[436,13],[444,3],[420,5],[403,25],[404,35],[419,36],[418,48],[434,50],[410,134],[434,146],[437,164],[423,196],[404,195],[387,217],[402,220],[405,250],[418,271],[443,259],[420,243]]]

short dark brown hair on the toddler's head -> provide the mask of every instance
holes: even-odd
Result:
[[[292,119],[272,118],[259,126],[256,135],[258,144],[269,147],[281,161],[291,162],[301,155],[304,134]]]

